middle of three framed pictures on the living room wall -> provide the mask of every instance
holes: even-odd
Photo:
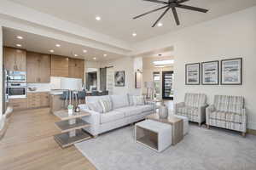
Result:
[[[201,63],[201,84],[218,85],[219,84],[219,61],[207,61]]]

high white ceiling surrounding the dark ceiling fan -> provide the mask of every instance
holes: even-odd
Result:
[[[176,26],[172,13],[168,13],[161,20],[164,26],[151,28],[162,11],[149,14],[138,20],[132,20],[132,17],[162,5],[143,0],[9,1],[54,15],[61,20],[71,21],[79,26],[119,38],[125,42],[141,42],[169,31],[177,31],[185,26],[192,26],[256,5],[255,0],[190,0],[186,4],[208,8],[210,11],[207,14],[202,14],[177,8],[181,26]],[[96,21],[96,15],[100,15],[102,20]],[[137,32],[137,37],[132,37],[132,32]]]

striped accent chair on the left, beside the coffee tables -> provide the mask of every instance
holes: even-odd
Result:
[[[198,122],[201,126],[202,122],[206,122],[207,106],[206,94],[185,94],[184,102],[175,105],[175,114],[186,116],[190,122]]]

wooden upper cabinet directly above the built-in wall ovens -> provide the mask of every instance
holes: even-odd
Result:
[[[17,48],[3,49],[4,67],[8,71],[26,71],[26,51]]]

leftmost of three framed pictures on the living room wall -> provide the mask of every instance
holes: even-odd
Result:
[[[200,85],[201,84],[201,64],[191,63],[185,65],[185,84]]]

